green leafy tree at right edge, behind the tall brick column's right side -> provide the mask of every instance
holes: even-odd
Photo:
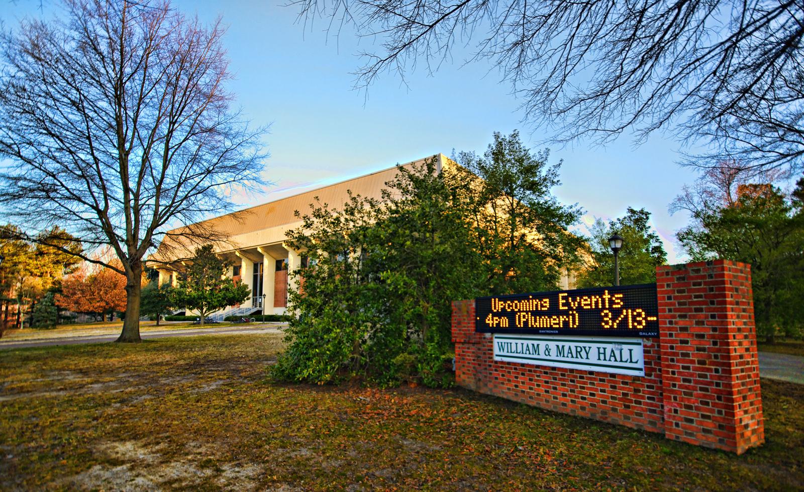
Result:
[[[738,183],[736,199],[702,201],[678,238],[693,260],[724,258],[751,264],[757,333],[802,335],[804,179],[787,196],[771,184]]]

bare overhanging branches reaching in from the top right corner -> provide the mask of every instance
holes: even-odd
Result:
[[[800,170],[804,155],[804,2],[703,0],[294,0],[306,23],[354,25],[380,39],[356,85],[456,43],[491,59],[523,98],[525,119],[557,141],[644,140],[679,125],[719,159]],[[693,161],[700,164],[699,161]]]

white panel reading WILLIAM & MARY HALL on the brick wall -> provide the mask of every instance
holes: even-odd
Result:
[[[494,360],[645,375],[642,338],[494,334]]]

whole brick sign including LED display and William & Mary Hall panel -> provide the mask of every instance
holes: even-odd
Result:
[[[453,301],[460,386],[743,453],[765,439],[750,265]]]

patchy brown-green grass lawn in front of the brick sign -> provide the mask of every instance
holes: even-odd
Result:
[[[804,386],[737,457],[461,389],[265,380],[281,335],[0,351],[0,489],[791,490]]]

